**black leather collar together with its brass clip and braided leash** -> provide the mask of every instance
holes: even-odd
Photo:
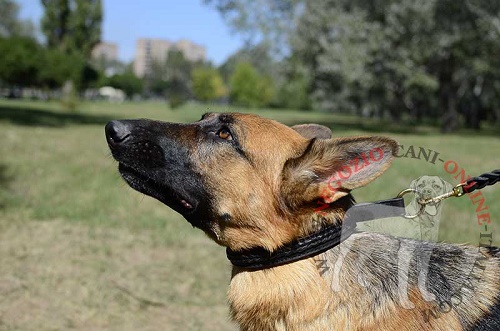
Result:
[[[498,181],[500,181],[500,169],[470,178],[465,183],[455,186],[451,192],[419,201],[419,203],[425,208],[426,204],[436,203],[451,196],[459,197],[480,190],[487,185],[493,185]],[[394,199],[355,204],[347,210],[340,224],[327,226],[318,232],[292,241],[274,252],[269,252],[262,247],[241,251],[233,251],[227,248],[227,258],[237,267],[257,270],[272,268],[318,255],[349,238],[356,232],[356,224],[359,222],[387,217],[404,216],[413,218],[418,216],[418,214],[413,216],[405,215],[405,204],[402,196],[409,192],[415,192],[415,190],[404,190]],[[421,211],[423,208],[421,208]]]

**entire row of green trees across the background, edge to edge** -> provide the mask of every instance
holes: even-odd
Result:
[[[0,84],[76,90],[110,85],[128,96],[249,107],[322,109],[394,122],[500,123],[500,2],[487,0],[204,0],[246,46],[221,66],[172,51],[137,78],[90,58],[101,0],[42,0],[41,30],[0,0]]]

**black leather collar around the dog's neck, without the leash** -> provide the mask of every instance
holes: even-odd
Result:
[[[318,232],[283,245],[274,252],[262,247],[241,251],[227,248],[226,255],[233,265],[240,268],[272,268],[318,255],[337,246],[356,232],[358,222],[404,214],[403,198],[358,203],[347,210],[341,224],[324,227]]]

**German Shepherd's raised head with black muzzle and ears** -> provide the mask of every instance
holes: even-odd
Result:
[[[235,113],[209,113],[192,124],[106,125],[132,188],[233,250],[274,250],[295,239],[307,232],[318,204],[338,218],[351,203],[350,191],[382,174],[397,151],[388,138],[330,135],[319,125],[290,128]]]

